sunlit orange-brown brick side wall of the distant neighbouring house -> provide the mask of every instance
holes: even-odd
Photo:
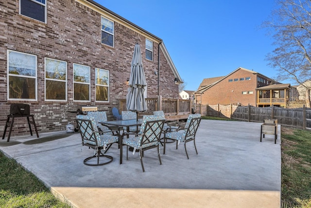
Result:
[[[244,81],[240,81],[240,78],[242,77],[244,78]],[[245,77],[251,77],[251,79],[245,80]],[[239,81],[228,81],[229,79],[234,80],[235,78],[238,78]],[[201,104],[216,105],[219,103],[222,105],[228,105],[230,103],[241,103],[241,105],[250,104],[256,106],[256,87],[257,74],[239,69],[206,90],[204,94],[202,94]],[[242,91],[253,91],[253,94],[242,95]],[[197,102],[200,102],[200,96],[197,97]]]

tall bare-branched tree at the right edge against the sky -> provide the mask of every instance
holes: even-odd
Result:
[[[278,80],[303,83],[311,78],[311,1],[276,0],[277,9],[263,27],[269,29],[276,49],[267,55],[269,65],[278,70]],[[304,85],[303,85],[304,86]],[[310,108],[310,88],[306,106]]]

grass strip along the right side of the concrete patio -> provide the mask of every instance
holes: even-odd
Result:
[[[311,132],[282,127],[281,136],[282,205],[311,208]]]

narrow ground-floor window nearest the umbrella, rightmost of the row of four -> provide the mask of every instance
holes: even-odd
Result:
[[[96,101],[109,102],[109,71],[95,68]]]

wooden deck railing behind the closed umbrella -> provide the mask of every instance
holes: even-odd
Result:
[[[147,112],[143,114],[152,114],[154,111],[163,111],[165,115],[184,115],[191,113],[191,100],[162,98],[146,98]],[[126,99],[120,100],[120,112],[126,111]]]

